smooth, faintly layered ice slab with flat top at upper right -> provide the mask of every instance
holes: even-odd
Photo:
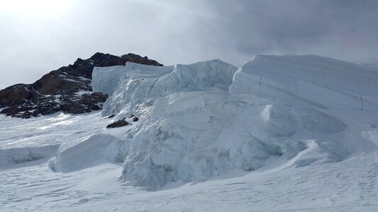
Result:
[[[376,110],[378,69],[315,55],[257,55],[235,74],[230,93],[259,93],[321,108]]]

